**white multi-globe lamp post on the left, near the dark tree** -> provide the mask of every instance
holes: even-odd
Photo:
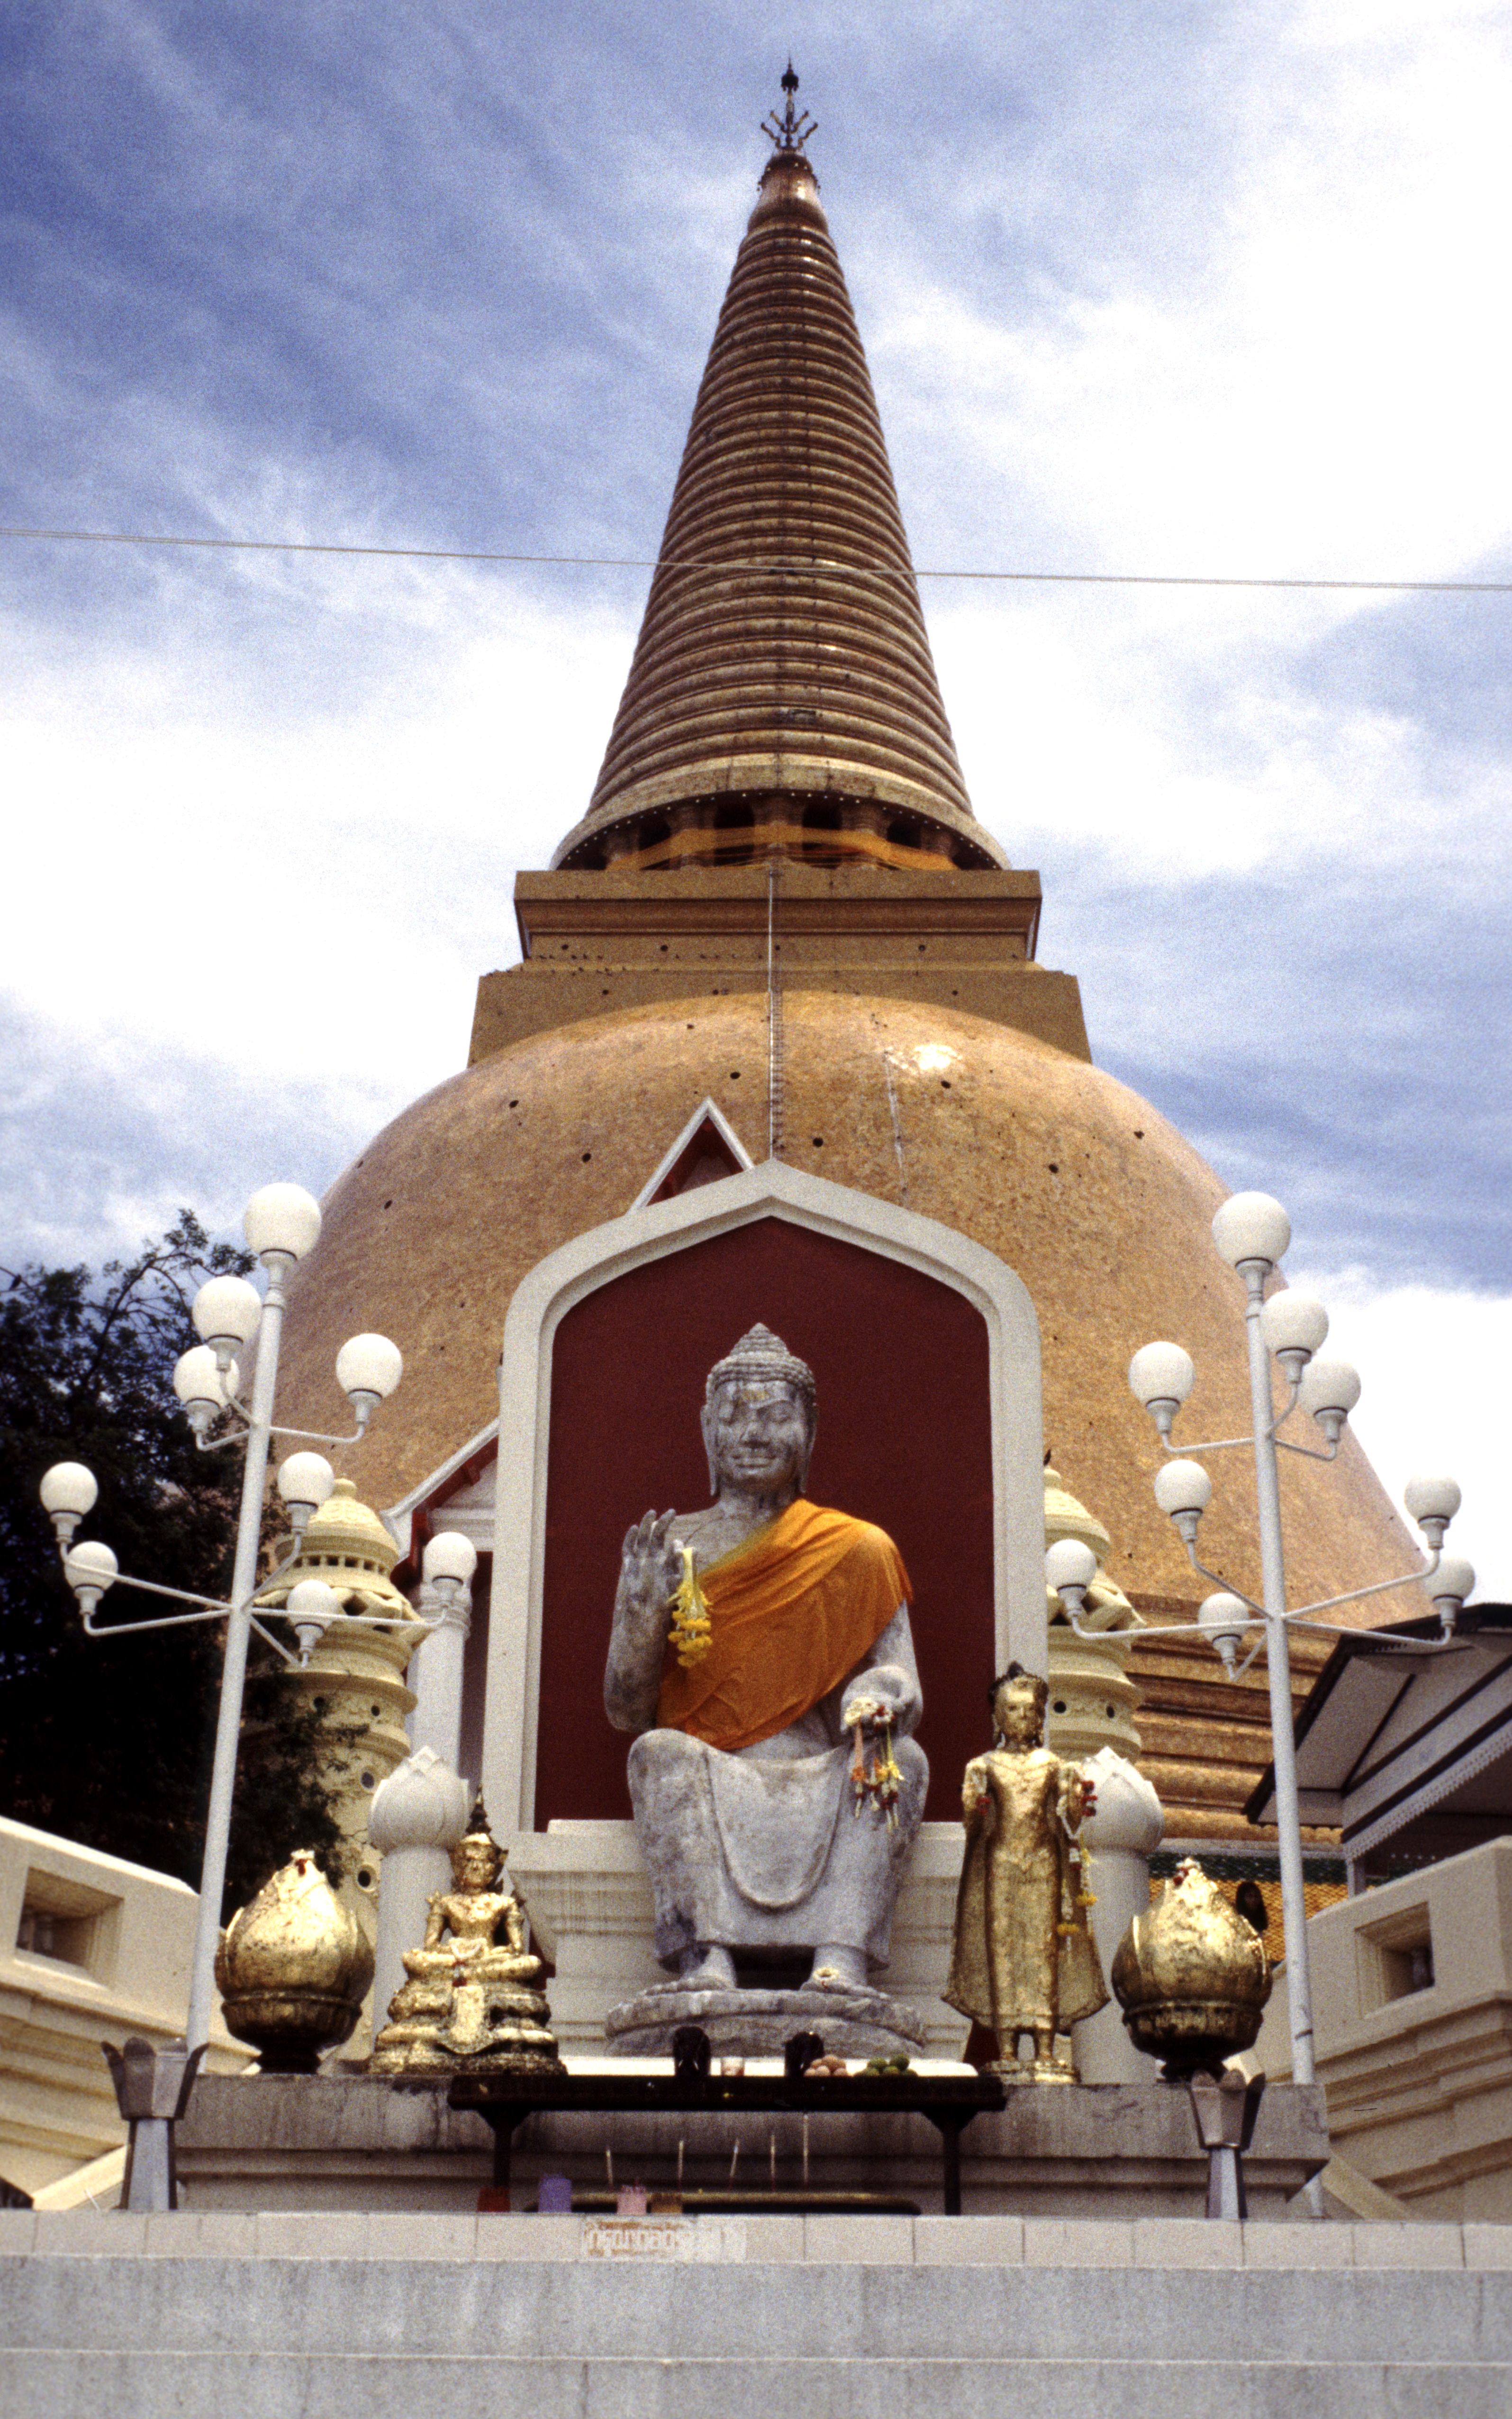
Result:
[[[368,1434],[377,1405],[404,1376],[399,1345],[387,1335],[353,1335],[336,1355],[336,1384],[346,1393],[356,1430],[351,1437],[324,1437],[300,1427],[283,1427],[273,1420],[273,1396],[278,1386],[278,1343],[283,1335],[285,1282],[295,1260],[302,1260],[319,1239],[319,1202],[300,1185],[264,1185],[247,1202],[247,1248],[266,1272],[266,1292],[247,1277],[210,1277],[194,1297],[194,1328],[203,1338],[179,1359],[174,1369],[174,1393],[184,1405],[189,1427],[201,1451],[242,1447],[242,1509],[237,1517],[237,1553],[230,1597],[196,1597],[184,1587],[162,1587],[157,1580],[133,1580],[119,1570],[109,1546],[82,1538],[75,1543],[77,1524],[94,1509],[99,1488],[92,1471],[80,1461],[58,1461],[41,1480],[41,1502],[51,1514],[63,1555],[63,1572],[77,1597],[85,1630],[92,1638],[119,1638],[138,1630],[179,1628],[194,1621],[225,1621],[225,1662],[220,1676],[220,1713],[215,1722],[215,1761],[210,1771],[210,1805],[206,1814],[206,1853],[201,1865],[198,1921],[194,1935],[194,1971],[189,1988],[189,2049],[198,2049],[210,2037],[210,2013],[215,2008],[215,1942],[220,1933],[220,1896],[225,1889],[225,1853],[230,1843],[232,1788],[237,1778],[237,1739],[242,1727],[242,1693],[247,1684],[247,1647],[252,1630],[290,1664],[307,1664],[312,1650],[324,1638],[331,1621],[341,1618],[341,1597],[324,1580],[300,1580],[288,1604],[269,1618],[288,1621],[298,1652],[290,1652],[261,1618],[252,1611],[259,1587],[269,1587],[290,1570],[300,1555],[305,1529],[312,1514],[327,1502],[336,1485],[324,1454],[295,1451],[278,1468],[278,1495],[283,1497],[293,1529],[293,1551],[273,1572],[259,1580],[264,1493],[269,1478],[269,1447],[273,1437],[285,1437],[302,1447],[312,1444],[360,1444]],[[252,1401],[242,1401],[240,1352],[256,1340],[256,1369],[252,1376]],[[215,1430],[230,1422],[223,1434]],[[477,1570],[477,1551],[469,1538],[443,1531],[426,1543],[423,1577],[435,1587],[443,1613],[457,1604]],[[152,1621],[111,1621],[94,1626],[99,1601],[111,1587],[133,1587],[150,1597],[172,1597],[194,1611],[162,1613]],[[368,1628],[435,1628],[421,1613],[363,1613]],[[440,1616],[438,1616],[440,1618]]]

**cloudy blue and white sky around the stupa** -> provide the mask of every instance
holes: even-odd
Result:
[[[924,571],[1512,578],[1481,0],[12,0],[0,523],[651,556],[789,51]],[[0,537],[0,1263],[464,1062],[646,578]],[[1512,595],[922,593],[1098,1064],[1512,1597]]]

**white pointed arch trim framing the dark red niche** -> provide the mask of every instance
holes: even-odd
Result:
[[[1002,1664],[1045,1672],[1045,1483],[1040,1444],[1040,1323],[1014,1270],[934,1219],[914,1217],[779,1159],[631,1210],[549,1253],[515,1289],[498,1364],[498,1509],[489,1604],[484,1783],[513,1831],[535,1824],[535,1732],[547,1536],[552,1343],[559,1323],[612,1277],[755,1219],[791,1219],[861,1251],[902,1260],[965,1294],[987,1323],[992,1389],[994,1621]],[[607,1609],[605,1609],[607,1611]],[[585,1674],[598,1686],[598,1674]],[[501,1831],[501,1838],[506,1834]]]

